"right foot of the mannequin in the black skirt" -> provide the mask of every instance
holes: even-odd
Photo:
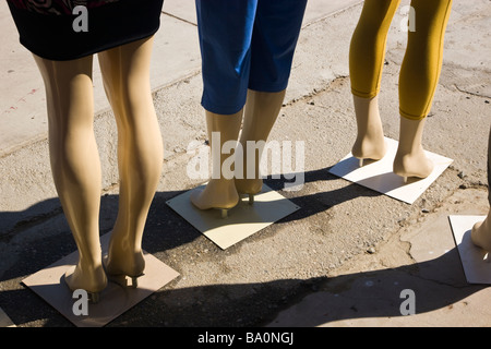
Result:
[[[111,243],[109,252],[105,255],[104,266],[108,277],[122,286],[127,286],[127,276],[132,280],[132,287],[137,287],[137,278],[143,276],[145,258],[143,252],[134,252],[127,248],[117,246]]]

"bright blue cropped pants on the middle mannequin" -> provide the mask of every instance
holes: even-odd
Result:
[[[202,53],[202,106],[232,115],[248,88],[288,85],[307,0],[195,0]]]

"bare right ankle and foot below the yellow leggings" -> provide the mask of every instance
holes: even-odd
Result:
[[[426,119],[400,118],[399,145],[394,159],[394,173],[404,177],[427,178],[433,171],[433,164],[422,147]]]

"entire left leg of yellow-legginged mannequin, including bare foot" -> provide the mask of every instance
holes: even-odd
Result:
[[[379,93],[391,22],[400,0],[366,0],[351,38],[349,71],[357,119],[351,154],[379,160],[386,152],[379,113]]]

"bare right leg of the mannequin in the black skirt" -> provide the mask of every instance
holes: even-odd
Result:
[[[149,85],[153,38],[99,53],[118,127],[119,210],[109,242],[109,275],[143,274],[142,238],[161,174],[164,149]]]

